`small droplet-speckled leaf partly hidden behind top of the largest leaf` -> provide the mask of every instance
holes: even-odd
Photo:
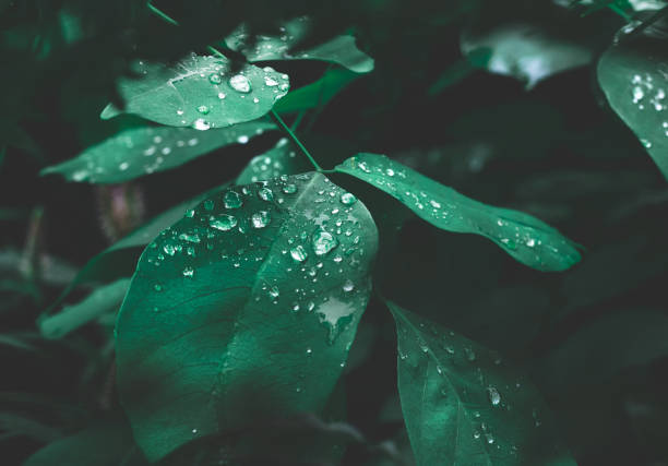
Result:
[[[253,157],[237,178],[237,184],[266,181],[282,175],[297,175],[308,171],[309,165],[285,138],[262,155]]]

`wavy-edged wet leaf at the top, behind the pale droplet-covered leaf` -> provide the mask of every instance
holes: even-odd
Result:
[[[287,22],[281,36],[259,36],[252,48],[246,47],[248,33],[244,26],[230,34],[225,43],[232,50],[241,51],[248,61],[270,60],[321,60],[341,64],[355,73],[373,70],[373,59],[360,51],[355,37],[336,36],[324,44],[306,50],[293,50],[311,28],[310,21],[302,16]]]

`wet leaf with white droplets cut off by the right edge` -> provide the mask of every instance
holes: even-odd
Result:
[[[643,38],[606,50],[596,69],[608,104],[668,178],[668,60],[665,43]]]

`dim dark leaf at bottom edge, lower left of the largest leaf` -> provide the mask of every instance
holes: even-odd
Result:
[[[49,443],[23,466],[146,466],[132,441],[130,429],[120,420],[102,421]]]

